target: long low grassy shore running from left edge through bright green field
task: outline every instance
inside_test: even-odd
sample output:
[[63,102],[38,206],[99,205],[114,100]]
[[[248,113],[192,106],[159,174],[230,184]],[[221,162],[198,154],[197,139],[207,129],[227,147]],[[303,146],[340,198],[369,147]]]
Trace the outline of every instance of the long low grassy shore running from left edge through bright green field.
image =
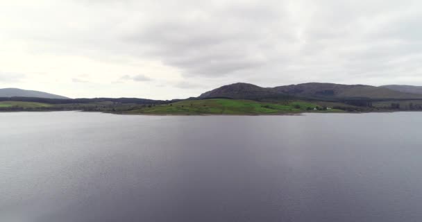
[[[314,110],[318,108],[318,110]],[[73,103],[48,104],[35,102],[0,102],[0,111],[54,111],[83,110],[91,112],[110,112],[116,114],[158,114],[158,115],[201,115],[201,114],[296,114],[301,112],[341,112],[324,109],[323,106],[304,101],[260,102],[236,99],[203,99],[179,101],[168,104],[134,103]]]

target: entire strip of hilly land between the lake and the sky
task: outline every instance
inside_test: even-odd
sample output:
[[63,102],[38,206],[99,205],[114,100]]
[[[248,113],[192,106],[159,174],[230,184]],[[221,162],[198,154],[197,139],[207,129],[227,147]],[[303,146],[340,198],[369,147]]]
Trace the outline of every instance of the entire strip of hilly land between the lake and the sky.
[[[402,89],[403,91],[404,89]],[[10,97],[15,96],[15,97]],[[371,85],[303,83],[260,87],[224,85],[189,99],[65,99],[22,89],[0,89],[0,112],[83,110],[117,114],[286,114],[422,110],[422,94]]]

